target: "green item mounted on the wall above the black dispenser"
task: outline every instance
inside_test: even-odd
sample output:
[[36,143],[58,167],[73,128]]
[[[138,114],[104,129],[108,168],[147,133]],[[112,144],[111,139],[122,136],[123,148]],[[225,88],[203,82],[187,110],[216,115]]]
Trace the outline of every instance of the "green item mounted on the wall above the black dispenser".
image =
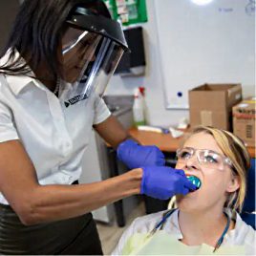
[[129,26],[147,22],[145,0],[104,0],[114,19],[119,19],[122,25]]

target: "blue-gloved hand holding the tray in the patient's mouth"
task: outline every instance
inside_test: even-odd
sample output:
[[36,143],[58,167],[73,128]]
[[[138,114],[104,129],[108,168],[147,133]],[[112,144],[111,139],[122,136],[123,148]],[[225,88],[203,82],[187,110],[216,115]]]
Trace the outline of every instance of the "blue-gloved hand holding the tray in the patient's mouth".
[[197,186],[188,181],[182,170],[164,166],[142,167],[140,193],[149,197],[167,200],[176,194],[186,195]]

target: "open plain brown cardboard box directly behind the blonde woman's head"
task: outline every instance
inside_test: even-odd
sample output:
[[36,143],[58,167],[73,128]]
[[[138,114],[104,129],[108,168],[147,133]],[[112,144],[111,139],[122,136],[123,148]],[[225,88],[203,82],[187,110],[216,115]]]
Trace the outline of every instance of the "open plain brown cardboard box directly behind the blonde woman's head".
[[189,91],[190,125],[232,129],[232,107],[242,100],[241,84],[203,84]]

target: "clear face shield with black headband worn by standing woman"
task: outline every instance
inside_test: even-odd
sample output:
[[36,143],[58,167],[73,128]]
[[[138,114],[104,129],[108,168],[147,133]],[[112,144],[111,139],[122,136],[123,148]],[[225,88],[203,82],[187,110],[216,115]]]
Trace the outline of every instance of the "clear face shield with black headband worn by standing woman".
[[124,51],[128,47],[116,21],[77,8],[62,37],[62,78],[72,84],[72,95],[101,97]]

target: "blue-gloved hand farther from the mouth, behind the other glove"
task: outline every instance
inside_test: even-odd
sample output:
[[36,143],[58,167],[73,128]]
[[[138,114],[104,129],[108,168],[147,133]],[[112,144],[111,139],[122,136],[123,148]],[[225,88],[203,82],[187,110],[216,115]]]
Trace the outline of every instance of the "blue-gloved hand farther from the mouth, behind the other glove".
[[117,158],[130,169],[165,164],[164,155],[157,146],[141,146],[132,139],[126,139],[118,145]]

